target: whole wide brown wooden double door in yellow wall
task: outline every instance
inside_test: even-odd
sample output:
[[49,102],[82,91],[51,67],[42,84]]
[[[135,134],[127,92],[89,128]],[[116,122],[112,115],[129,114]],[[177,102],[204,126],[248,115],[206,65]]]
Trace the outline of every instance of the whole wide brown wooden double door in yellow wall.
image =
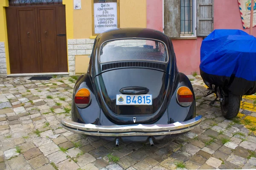
[[6,8],[11,74],[67,72],[65,6]]

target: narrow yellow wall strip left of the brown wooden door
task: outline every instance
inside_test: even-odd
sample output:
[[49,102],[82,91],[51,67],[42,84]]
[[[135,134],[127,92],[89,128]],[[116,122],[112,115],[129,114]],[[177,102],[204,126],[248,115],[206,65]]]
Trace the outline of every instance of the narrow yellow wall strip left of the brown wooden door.
[[5,42],[7,74],[10,74],[9,50],[6,26],[6,10],[9,6],[8,0],[0,0],[0,42]]

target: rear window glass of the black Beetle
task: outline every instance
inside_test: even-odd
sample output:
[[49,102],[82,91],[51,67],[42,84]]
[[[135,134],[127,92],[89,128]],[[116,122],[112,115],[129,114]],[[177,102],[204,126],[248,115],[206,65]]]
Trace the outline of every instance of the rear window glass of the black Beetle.
[[104,42],[99,61],[151,60],[167,62],[166,45],[157,40],[123,39]]

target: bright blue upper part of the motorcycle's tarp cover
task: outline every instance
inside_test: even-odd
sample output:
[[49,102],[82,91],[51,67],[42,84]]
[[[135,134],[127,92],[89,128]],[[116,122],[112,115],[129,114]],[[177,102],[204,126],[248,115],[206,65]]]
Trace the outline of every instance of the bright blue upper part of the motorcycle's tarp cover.
[[[242,89],[243,93],[256,88],[256,38],[241,30],[214,30],[202,42],[200,71],[212,76],[209,78],[204,75],[203,79],[221,79],[230,86],[230,77],[239,78],[239,81],[243,79],[241,83],[253,81],[250,87],[247,85],[247,89]],[[226,78],[227,81],[224,80]],[[239,81],[236,80],[236,83]],[[244,88],[244,85],[238,86],[236,85],[237,89]]]

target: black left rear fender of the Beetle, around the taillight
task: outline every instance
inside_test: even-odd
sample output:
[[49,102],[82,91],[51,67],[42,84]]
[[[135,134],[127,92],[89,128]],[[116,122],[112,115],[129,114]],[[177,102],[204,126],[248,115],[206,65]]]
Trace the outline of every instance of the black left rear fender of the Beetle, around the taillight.
[[[79,108],[76,106],[74,102],[74,97],[76,95],[76,92],[80,88],[87,88],[90,91],[91,101],[86,108]],[[94,123],[96,125],[99,125],[98,123],[100,119],[100,111],[101,109],[96,99],[90,76],[88,74],[83,74],[76,81],[76,85],[73,91],[72,107],[71,107],[72,121],[80,122],[80,123]]]

